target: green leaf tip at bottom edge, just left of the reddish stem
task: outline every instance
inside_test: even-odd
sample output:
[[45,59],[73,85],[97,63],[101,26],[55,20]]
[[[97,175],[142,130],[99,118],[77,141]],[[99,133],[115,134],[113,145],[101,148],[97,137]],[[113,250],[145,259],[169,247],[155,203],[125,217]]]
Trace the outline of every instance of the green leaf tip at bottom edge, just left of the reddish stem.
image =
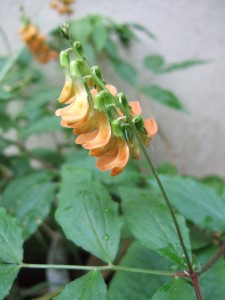
[[[195,300],[193,288],[181,278],[164,284],[151,300]],[[216,299],[216,298],[214,298]]]

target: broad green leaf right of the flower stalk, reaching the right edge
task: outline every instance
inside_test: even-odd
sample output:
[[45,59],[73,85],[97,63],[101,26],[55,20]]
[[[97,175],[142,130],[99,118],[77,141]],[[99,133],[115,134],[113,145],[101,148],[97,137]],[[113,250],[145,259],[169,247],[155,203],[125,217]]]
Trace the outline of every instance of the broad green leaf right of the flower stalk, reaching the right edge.
[[[225,232],[225,201],[212,188],[181,176],[160,178],[178,212],[201,228]],[[154,179],[150,183],[157,189]]]

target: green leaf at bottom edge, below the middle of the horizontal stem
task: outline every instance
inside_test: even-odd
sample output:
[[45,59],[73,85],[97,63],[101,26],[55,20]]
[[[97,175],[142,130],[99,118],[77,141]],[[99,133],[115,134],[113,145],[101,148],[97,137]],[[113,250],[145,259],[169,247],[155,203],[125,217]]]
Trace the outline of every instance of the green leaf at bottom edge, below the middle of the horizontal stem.
[[89,272],[70,282],[54,300],[107,300],[107,288],[98,271]]

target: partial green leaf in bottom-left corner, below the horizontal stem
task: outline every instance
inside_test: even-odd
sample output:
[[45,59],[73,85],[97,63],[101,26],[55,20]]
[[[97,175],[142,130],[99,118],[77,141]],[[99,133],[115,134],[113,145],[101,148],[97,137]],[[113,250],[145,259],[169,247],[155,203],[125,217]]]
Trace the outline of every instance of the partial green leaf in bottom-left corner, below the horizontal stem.
[[0,263],[0,299],[5,299],[18,272],[19,267],[17,265],[4,265]]

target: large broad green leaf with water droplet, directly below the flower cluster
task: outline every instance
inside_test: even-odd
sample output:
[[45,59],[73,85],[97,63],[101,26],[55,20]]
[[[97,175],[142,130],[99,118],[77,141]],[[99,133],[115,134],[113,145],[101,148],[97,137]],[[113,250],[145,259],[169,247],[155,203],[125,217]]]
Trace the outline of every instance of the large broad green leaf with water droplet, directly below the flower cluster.
[[120,240],[118,205],[89,170],[65,166],[56,219],[68,239],[112,262]]

